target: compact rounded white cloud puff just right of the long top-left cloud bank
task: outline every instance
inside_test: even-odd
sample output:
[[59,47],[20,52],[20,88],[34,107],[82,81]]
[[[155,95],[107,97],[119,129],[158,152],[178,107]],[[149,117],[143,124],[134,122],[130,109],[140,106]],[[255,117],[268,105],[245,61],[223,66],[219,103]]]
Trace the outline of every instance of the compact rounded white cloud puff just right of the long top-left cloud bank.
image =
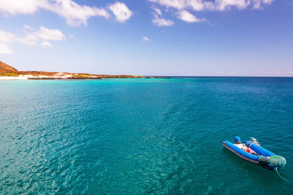
[[119,22],[125,22],[129,20],[133,12],[123,3],[116,1],[115,3],[108,6],[108,8],[113,12],[116,20]]

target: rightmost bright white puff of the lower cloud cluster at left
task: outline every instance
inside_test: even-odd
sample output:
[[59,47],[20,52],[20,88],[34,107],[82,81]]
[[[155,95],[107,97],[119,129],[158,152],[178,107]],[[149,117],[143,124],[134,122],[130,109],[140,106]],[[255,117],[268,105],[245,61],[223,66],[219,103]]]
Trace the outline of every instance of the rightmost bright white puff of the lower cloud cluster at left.
[[65,40],[65,35],[60,30],[48,29],[43,26],[40,26],[40,30],[35,35],[46,40]]

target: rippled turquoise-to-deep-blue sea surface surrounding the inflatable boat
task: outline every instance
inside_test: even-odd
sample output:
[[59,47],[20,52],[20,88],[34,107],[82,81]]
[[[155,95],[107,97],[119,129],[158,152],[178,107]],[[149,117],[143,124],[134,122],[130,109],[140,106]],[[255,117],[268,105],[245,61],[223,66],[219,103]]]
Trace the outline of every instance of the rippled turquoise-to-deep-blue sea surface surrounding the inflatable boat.
[[293,78],[196,78],[0,80],[0,194],[293,194]]

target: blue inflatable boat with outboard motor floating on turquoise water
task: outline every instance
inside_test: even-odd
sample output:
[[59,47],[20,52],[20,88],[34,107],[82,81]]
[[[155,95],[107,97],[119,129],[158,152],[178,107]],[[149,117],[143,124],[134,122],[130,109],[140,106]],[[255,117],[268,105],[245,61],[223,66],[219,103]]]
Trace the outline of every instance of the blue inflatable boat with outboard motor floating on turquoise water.
[[223,146],[242,159],[260,165],[265,169],[276,170],[286,164],[286,159],[283,156],[277,156],[262,148],[253,137],[249,141],[244,141],[244,143],[240,142],[240,137],[234,137],[234,144],[225,140]]

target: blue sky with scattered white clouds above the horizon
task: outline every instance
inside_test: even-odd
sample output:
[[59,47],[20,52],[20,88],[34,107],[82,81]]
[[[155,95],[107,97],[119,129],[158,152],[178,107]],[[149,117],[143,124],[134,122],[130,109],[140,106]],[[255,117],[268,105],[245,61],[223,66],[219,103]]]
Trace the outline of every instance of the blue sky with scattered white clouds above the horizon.
[[293,0],[0,0],[18,70],[293,77]]

